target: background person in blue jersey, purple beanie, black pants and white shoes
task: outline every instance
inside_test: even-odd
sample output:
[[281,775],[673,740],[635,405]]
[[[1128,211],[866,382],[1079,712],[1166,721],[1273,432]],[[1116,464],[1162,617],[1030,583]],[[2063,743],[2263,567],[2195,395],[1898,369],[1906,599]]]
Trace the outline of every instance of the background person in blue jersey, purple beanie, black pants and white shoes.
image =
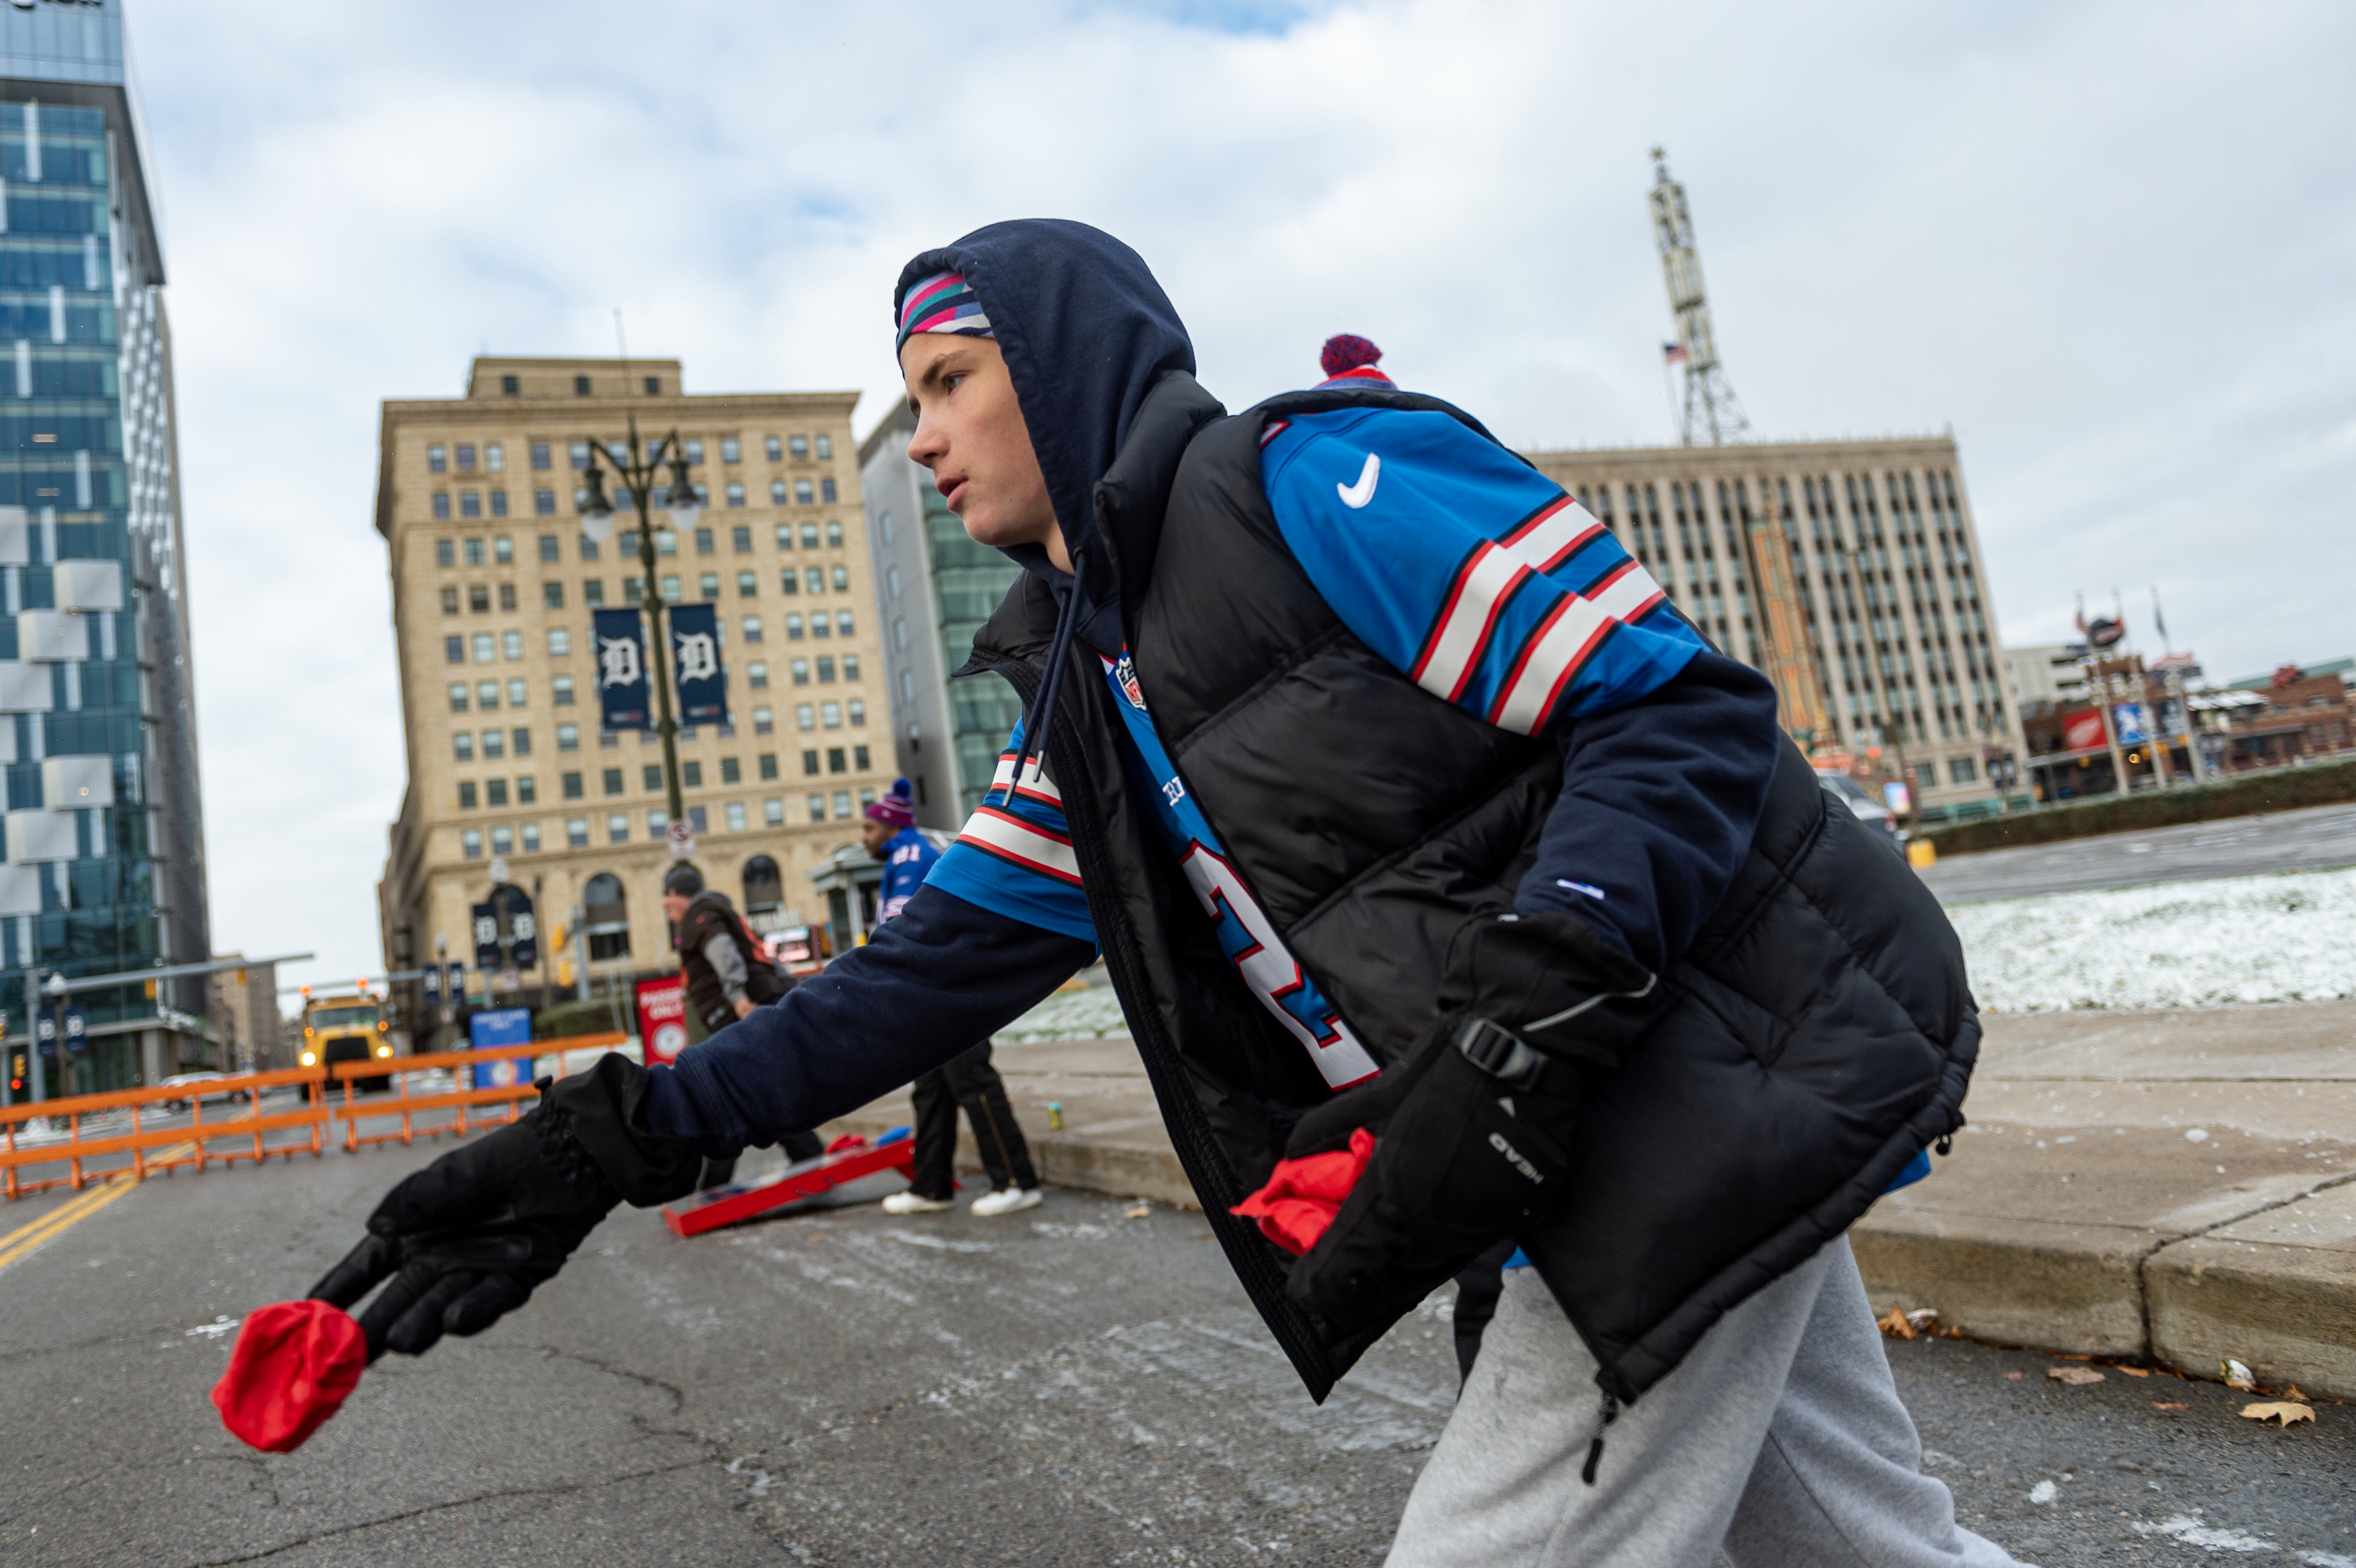
[[[860,819],[860,843],[884,862],[884,883],[876,888],[876,925],[884,925],[907,909],[916,888],[924,888],[924,878],[940,864],[940,850],[916,829],[916,803],[907,779],[893,779],[891,791],[867,808]],[[973,1123],[973,1147],[990,1175],[990,1191],[971,1203],[973,1212],[990,1220],[1039,1208],[1039,1172],[1032,1170],[1030,1142],[1006,1099],[1006,1081],[990,1064],[990,1041],[919,1074],[909,1097],[916,1111],[916,1168],[907,1191],[884,1198],[886,1212],[940,1215],[957,1208],[949,1194],[957,1191],[959,1107]]]

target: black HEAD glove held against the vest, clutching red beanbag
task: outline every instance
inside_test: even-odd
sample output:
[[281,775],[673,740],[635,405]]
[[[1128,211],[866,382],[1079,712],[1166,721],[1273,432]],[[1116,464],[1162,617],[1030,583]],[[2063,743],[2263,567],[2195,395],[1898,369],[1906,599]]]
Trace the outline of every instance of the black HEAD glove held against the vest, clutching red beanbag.
[[1465,928],[1442,982],[1449,1012],[1374,1083],[1315,1107],[1286,1158],[1355,1128],[1374,1158],[1286,1293],[1336,1323],[1388,1271],[1449,1274],[1562,1201],[1586,1081],[1652,1017],[1654,977],[1579,916]]

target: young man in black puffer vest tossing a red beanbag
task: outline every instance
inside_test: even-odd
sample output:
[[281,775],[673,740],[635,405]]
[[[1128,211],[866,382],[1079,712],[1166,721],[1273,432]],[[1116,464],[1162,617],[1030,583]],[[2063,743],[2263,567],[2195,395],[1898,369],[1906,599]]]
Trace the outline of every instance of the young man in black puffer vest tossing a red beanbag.
[[1110,235],[997,224],[893,304],[909,454],[1025,567],[968,664],[1025,702],[990,800],[867,946],[410,1177],[320,1295],[391,1276],[372,1349],[476,1333],[613,1203],[1103,951],[1315,1398],[1482,1253],[1527,1264],[1392,1563],[2010,1561],[1918,1474],[1845,1241],[1960,1123],[1963,956],[1767,683],[1461,410],[1227,417]]

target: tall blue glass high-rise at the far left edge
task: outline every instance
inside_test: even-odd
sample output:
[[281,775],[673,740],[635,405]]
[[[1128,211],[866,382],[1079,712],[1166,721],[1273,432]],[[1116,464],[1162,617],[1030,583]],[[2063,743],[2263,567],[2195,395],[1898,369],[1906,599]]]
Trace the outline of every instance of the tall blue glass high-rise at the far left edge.
[[[0,1005],[210,956],[172,339],[120,0],[0,7]],[[205,982],[73,998],[49,1095],[205,1057]],[[31,1076],[31,1074],[26,1074]],[[12,1083],[12,1097],[26,1088]]]

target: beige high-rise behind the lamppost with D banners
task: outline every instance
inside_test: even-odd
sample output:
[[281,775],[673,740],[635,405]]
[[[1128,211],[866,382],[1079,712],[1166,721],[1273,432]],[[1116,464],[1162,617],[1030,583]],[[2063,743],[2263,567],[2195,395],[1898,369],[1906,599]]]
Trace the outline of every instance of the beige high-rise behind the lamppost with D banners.
[[679,431],[707,497],[690,530],[662,490],[653,513],[660,591],[716,605],[728,673],[730,725],[679,732],[695,864],[756,925],[827,918],[808,873],[893,777],[855,403],[686,396],[679,360],[509,358],[474,360],[464,398],[384,403],[377,532],[410,768],[377,888],[393,972],[476,968],[471,911],[502,862],[540,928],[516,1001],[561,1001],[582,956],[601,994],[676,963],[662,744],[598,725],[591,610],[641,598],[610,471],[613,532],[580,518],[587,443],[622,445],[631,414],[648,447]]

